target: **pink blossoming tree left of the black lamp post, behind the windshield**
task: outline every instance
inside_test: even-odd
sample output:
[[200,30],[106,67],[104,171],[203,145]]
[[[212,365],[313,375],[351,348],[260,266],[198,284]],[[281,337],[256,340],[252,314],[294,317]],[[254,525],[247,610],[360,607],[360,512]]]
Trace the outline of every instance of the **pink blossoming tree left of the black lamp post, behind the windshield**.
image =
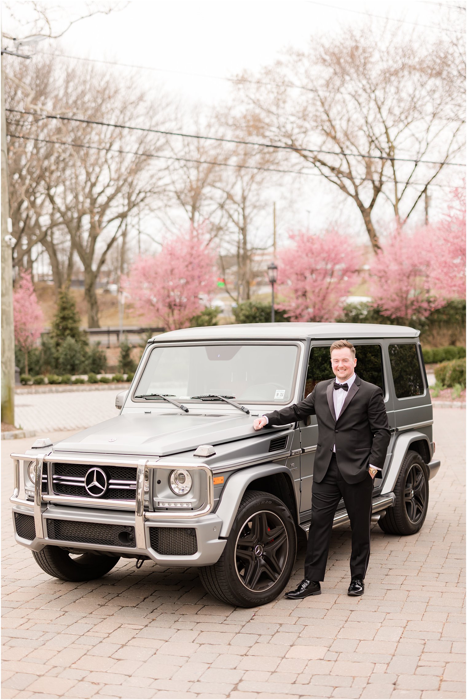
[[157,255],[138,258],[122,286],[148,322],[187,328],[203,309],[200,295],[215,290],[215,258],[203,230],[192,228],[166,241]]

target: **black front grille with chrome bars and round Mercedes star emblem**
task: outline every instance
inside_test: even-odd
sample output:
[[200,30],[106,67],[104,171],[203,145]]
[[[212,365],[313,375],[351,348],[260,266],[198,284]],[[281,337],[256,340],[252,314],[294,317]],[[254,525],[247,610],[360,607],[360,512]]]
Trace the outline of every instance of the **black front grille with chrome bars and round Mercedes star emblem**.
[[[52,462],[52,491],[59,496],[82,496],[89,498],[85,489],[85,477],[94,465]],[[106,473],[108,488],[101,496],[106,500],[135,500],[136,468],[110,465],[101,467]],[[96,500],[99,500],[96,498]]]

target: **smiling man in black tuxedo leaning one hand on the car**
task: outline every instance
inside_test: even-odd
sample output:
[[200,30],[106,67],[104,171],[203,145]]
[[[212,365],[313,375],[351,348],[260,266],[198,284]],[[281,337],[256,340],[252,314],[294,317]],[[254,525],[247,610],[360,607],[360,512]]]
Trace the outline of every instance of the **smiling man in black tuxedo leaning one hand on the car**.
[[389,423],[379,386],[354,372],[355,348],[347,340],[331,345],[336,379],[320,381],[303,401],[257,418],[253,427],[280,426],[316,414],[318,444],[313,470],[311,526],[305,557],[305,578],[287,598],[321,593],[333,518],[340,498],[352,528],[350,596],[361,596],[370,558],[373,479],[381,478],[389,445]]

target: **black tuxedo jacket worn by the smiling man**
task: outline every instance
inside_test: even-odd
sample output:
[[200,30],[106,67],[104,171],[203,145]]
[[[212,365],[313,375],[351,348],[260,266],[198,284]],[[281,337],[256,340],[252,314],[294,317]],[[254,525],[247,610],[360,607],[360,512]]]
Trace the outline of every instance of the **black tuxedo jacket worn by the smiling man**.
[[[379,386],[355,375],[336,421],[334,381],[320,381],[303,401],[266,413],[268,425],[283,426],[316,414],[319,442],[313,481],[324,479],[335,444],[340,473],[348,484],[357,484],[368,474],[369,464],[382,468],[385,463],[391,437],[385,402]],[[381,478],[381,472],[375,478]]]

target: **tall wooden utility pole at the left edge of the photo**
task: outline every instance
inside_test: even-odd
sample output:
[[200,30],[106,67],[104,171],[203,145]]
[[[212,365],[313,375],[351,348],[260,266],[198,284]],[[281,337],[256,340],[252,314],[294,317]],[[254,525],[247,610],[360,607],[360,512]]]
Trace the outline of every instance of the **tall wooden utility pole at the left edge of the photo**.
[[1,59],[1,421],[15,425],[15,332],[5,91]]

